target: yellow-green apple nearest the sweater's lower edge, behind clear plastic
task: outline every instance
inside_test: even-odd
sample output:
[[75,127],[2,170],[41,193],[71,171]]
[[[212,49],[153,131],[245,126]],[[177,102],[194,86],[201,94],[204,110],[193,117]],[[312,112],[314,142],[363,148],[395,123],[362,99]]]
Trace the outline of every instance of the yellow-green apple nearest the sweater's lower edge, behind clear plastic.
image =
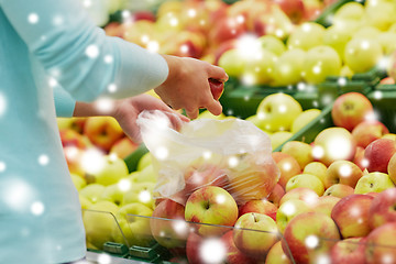
[[84,212],[82,222],[87,242],[102,250],[106,242],[112,241],[112,229],[117,224],[114,216],[119,207],[111,201],[98,201]]

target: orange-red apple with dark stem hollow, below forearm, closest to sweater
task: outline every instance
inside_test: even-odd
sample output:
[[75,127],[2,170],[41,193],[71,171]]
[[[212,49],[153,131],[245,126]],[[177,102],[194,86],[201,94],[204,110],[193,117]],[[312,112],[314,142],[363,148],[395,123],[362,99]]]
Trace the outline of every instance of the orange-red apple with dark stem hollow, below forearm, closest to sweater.
[[84,127],[84,134],[105,152],[110,151],[111,146],[124,136],[120,124],[111,117],[88,118]]

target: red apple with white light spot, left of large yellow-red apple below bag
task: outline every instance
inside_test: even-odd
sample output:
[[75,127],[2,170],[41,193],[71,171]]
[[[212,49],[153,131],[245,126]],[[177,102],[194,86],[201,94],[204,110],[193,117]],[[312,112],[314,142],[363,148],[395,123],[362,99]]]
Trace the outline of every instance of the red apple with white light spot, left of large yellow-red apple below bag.
[[[185,207],[164,199],[153,211],[150,219],[151,233],[158,244],[172,249],[184,246],[188,237],[188,224],[185,222]],[[172,219],[172,221],[166,220]]]

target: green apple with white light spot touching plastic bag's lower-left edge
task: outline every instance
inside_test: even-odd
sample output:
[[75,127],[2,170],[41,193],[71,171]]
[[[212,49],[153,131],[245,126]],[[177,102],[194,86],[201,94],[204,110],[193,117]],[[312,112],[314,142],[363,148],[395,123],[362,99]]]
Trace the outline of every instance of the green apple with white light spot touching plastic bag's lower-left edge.
[[150,182],[132,184],[131,188],[123,195],[122,205],[140,202],[154,209],[153,189],[155,185]]

